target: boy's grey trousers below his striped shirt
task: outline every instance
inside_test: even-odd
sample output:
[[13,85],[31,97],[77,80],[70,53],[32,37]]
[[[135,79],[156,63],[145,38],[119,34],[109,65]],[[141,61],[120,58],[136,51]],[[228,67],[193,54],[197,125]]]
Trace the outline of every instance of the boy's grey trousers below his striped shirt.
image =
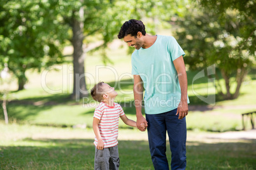
[[94,169],[95,170],[118,170],[120,164],[118,147],[104,148],[98,150],[95,147]]

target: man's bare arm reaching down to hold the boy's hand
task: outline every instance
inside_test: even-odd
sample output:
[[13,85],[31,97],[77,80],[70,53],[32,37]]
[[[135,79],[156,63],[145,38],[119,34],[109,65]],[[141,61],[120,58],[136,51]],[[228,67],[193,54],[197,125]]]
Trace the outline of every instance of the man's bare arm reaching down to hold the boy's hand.
[[145,124],[145,127],[148,127],[148,122],[141,113],[141,103],[143,100],[143,81],[139,75],[134,75],[134,103],[136,108],[136,117],[137,117],[137,128],[140,131],[145,131],[145,128],[141,127],[141,124]]

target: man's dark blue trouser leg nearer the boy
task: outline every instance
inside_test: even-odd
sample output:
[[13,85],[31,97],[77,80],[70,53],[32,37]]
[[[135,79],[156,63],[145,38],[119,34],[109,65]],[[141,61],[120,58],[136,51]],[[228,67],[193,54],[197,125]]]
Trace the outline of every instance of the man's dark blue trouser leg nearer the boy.
[[148,143],[155,169],[169,169],[166,158],[166,121],[164,114],[146,114],[148,122]]

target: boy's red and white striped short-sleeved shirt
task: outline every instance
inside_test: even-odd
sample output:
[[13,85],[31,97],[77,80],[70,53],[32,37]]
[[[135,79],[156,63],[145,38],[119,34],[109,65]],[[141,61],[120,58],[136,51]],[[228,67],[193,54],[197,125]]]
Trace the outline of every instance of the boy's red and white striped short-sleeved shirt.
[[[124,110],[118,104],[114,103],[113,107],[101,102],[94,111],[94,117],[99,119],[99,133],[103,139],[104,148],[114,147],[118,144],[118,122],[119,117],[123,116]],[[95,136],[94,145],[97,146],[97,138]]]

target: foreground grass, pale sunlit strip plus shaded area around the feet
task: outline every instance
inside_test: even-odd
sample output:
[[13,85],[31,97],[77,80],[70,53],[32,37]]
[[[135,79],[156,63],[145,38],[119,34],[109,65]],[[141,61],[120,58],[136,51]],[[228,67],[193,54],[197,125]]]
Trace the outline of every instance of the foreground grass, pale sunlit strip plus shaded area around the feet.
[[[0,122],[0,169],[94,169],[92,129]],[[120,169],[153,169],[146,133],[120,129]],[[187,141],[187,169],[255,169],[255,140]],[[141,137],[142,136],[142,137]],[[127,140],[129,138],[129,140]],[[167,159],[171,160],[169,143]]]

